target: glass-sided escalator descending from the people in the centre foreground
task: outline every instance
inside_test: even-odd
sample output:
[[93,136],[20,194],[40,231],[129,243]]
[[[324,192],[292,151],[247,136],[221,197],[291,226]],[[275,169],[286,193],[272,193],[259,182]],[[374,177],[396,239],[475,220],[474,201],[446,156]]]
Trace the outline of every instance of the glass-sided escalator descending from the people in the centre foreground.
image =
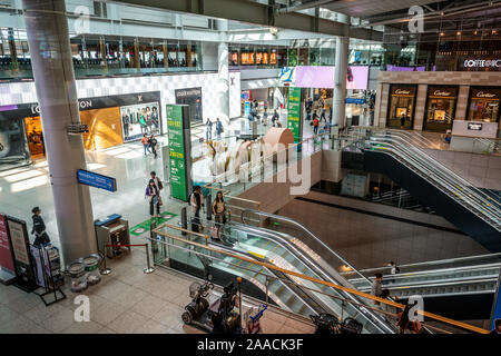
[[[207,222],[203,221],[203,225],[209,225]],[[312,279],[353,287],[347,280],[340,278],[338,275],[333,278],[332,275],[335,274],[335,270],[330,270],[330,266],[326,264],[321,266],[318,260],[312,258],[292,240],[294,238],[266,228],[233,221],[228,222],[225,225],[220,241],[207,240],[208,246],[213,247],[213,249],[209,253],[210,257],[202,258],[204,260],[204,273],[212,274],[215,277],[215,283],[219,285],[225,283],[222,278],[234,280],[235,276],[243,277],[244,293],[247,294],[247,290],[254,289],[254,295],[250,294],[250,296],[262,300],[268,298],[272,304],[284,310],[306,317],[321,313],[335,315],[340,319],[350,316],[363,325],[363,333],[395,333],[394,326],[390,325],[373,310],[364,307],[366,304],[362,300],[363,298],[313,280],[282,273],[274,268],[266,268],[258,264],[273,264],[285,270],[306,275]],[[203,238],[199,243],[205,244]],[[203,248],[196,247],[195,251],[203,253]],[[256,260],[256,264],[238,258],[238,255],[246,259]],[[170,260],[176,258],[174,256],[173,251],[170,251]],[[183,258],[186,260],[185,265],[193,264],[187,260],[186,256],[179,256],[177,259],[180,260]],[[199,260],[200,258],[194,263],[200,264]],[[173,263],[170,263],[170,266],[173,266]],[[178,264],[174,268],[179,266]],[[202,268],[199,269],[202,270]],[[338,280],[342,280],[342,283],[338,283]],[[247,287],[247,290],[244,290],[244,286]],[[256,294],[256,289],[261,291],[261,295],[259,293]]]

